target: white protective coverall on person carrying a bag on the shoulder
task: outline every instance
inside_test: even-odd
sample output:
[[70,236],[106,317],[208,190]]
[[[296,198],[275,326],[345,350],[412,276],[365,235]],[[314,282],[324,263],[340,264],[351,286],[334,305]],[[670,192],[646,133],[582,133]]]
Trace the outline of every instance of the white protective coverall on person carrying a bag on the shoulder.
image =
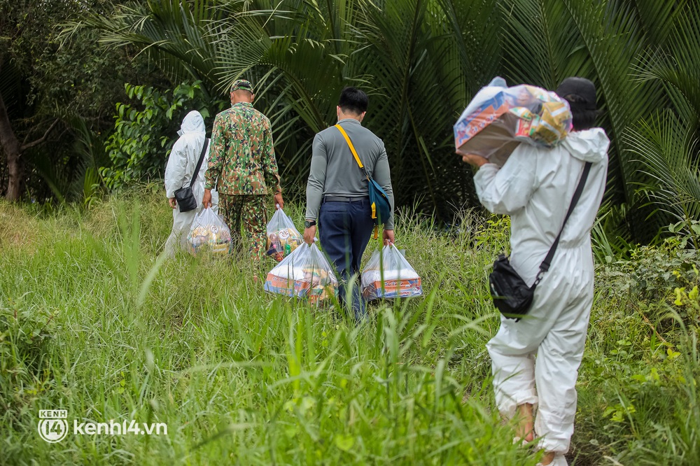
[[535,433],[540,448],[555,452],[555,466],[567,464],[563,454],[573,434],[575,383],[593,304],[590,232],[605,190],[609,145],[601,128],[572,132],[556,148],[522,143],[503,167],[484,164],[474,177],[486,209],[510,215],[510,263],[532,285],[561,229],[584,162],[592,162],[529,313],[519,322],[502,316],[498,333],[486,344],[499,411],[512,418],[520,404],[538,406]]

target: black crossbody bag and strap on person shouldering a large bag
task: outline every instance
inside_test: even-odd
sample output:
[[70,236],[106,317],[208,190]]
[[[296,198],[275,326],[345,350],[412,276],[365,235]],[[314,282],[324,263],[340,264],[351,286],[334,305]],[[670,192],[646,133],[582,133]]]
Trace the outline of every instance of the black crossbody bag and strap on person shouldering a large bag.
[[583,174],[573,193],[569,209],[566,212],[566,217],[564,217],[564,223],[561,225],[561,230],[559,230],[559,234],[556,235],[554,243],[552,243],[552,246],[549,248],[547,257],[545,257],[545,260],[540,264],[540,271],[532,286],[528,286],[517,271],[513,269],[510,265],[510,260],[508,260],[505,254],[498,255],[496,262],[493,262],[493,271],[491,271],[489,275],[491,297],[493,298],[493,305],[498,308],[498,311],[500,311],[505,318],[515,319],[517,322],[530,310],[532,299],[535,295],[535,288],[537,288],[545,272],[549,270],[549,265],[552,263],[552,257],[554,257],[556,246],[559,245],[561,232],[563,232],[566,220],[568,220],[578,199],[581,197],[589,171],[591,171],[591,162],[586,162],[583,167]]

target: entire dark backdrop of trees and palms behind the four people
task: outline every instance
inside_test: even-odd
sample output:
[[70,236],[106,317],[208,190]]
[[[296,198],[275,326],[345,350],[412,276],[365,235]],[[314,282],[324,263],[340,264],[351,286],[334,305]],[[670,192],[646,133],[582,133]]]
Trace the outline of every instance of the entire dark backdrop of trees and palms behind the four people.
[[[104,126],[106,108],[123,102],[145,111],[124,101],[125,81],[163,95],[201,82],[202,101],[214,102],[246,77],[272,120],[288,192],[302,188],[311,139],[333,123],[339,90],[358,85],[370,93],[365,123],[386,143],[398,205],[449,223],[460,206],[477,204],[471,171],[451,142],[451,125],[472,95],[499,74],[549,89],[576,75],[596,83],[600,124],[612,139],[603,223],[610,246],[649,241],[669,222],[688,233],[700,215],[694,1],[54,0],[41,11],[31,0],[6,3],[0,35],[10,48],[0,57],[0,95],[11,102],[15,132],[38,137],[53,121],[50,134],[64,127],[62,141],[83,141],[58,146],[60,155],[41,146],[22,156],[59,199],[102,183],[96,167],[123,171],[101,148],[120,164],[137,150],[115,147],[120,141],[174,137],[158,123],[106,141],[125,129],[118,113],[116,127]],[[159,72],[138,71],[145,63]],[[21,79],[8,79],[10,72]],[[18,113],[27,104],[29,118]],[[163,150],[142,159],[123,181],[162,174],[166,157]],[[78,169],[66,171],[76,160]],[[38,192],[36,179],[27,181]]]

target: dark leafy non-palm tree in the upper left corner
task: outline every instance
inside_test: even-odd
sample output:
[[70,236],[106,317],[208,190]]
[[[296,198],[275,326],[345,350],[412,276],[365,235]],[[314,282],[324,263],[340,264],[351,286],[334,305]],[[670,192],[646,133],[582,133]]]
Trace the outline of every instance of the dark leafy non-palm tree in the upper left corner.
[[0,195],[89,199],[109,164],[104,141],[125,80],[166,85],[132,48],[99,47],[97,31],[59,39],[64,22],[118,3],[0,0]]

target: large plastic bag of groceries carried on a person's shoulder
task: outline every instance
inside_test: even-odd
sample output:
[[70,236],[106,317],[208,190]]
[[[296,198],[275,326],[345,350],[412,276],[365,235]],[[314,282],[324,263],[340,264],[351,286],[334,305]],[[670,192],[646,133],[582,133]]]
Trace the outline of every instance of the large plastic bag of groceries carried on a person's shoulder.
[[565,99],[531,85],[507,87],[494,78],[482,87],[454,125],[454,146],[503,164],[521,142],[553,147],[572,129]]

